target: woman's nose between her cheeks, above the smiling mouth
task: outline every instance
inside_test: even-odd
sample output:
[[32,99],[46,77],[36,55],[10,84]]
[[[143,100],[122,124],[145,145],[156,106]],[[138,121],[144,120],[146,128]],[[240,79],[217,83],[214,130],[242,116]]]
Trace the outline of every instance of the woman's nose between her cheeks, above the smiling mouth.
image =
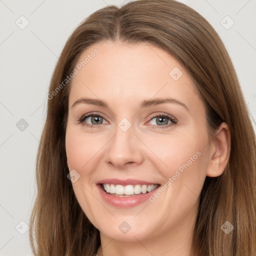
[[132,126],[123,131],[116,127],[115,135],[107,143],[105,161],[116,168],[135,166],[143,161],[142,143],[133,134]]

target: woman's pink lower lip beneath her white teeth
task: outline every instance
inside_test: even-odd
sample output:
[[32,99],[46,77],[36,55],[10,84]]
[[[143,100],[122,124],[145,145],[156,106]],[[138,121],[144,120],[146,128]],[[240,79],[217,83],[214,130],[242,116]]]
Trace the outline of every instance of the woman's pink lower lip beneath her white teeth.
[[107,203],[115,207],[121,207],[121,208],[130,208],[130,207],[139,205],[140,203],[146,201],[150,197],[150,195],[152,195],[155,192],[155,190],[158,188],[156,187],[154,190],[144,194],[138,194],[130,197],[119,197],[119,196],[114,196],[105,192],[101,184],[97,184],[97,187],[99,189],[99,193]]

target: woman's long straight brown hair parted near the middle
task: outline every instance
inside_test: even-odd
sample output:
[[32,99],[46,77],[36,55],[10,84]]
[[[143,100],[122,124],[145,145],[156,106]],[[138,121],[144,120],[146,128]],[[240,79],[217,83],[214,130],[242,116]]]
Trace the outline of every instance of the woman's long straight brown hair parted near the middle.
[[[82,211],[67,178],[65,128],[71,80],[65,79],[88,46],[107,39],[148,42],[172,54],[194,80],[209,132],[222,121],[228,124],[229,161],[222,175],[205,179],[192,249],[198,256],[254,256],[256,145],[248,110],[218,34],[200,14],[174,0],[106,6],[81,22],[68,38],[50,81],[36,159],[37,197],[29,229],[34,255],[91,256],[100,244],[99,231]],[[221,230],[225,221],[234,226],[229,234]]]

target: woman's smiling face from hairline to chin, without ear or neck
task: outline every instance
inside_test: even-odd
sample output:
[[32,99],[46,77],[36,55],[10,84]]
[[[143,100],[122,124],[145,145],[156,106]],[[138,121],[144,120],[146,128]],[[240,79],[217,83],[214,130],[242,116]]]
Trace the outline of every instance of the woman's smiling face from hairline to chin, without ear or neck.
[[91,45],[77,64],[65,145],[84,213],[120,240],[190,233],[210,143],[186,70],[154,45],[119,41]]

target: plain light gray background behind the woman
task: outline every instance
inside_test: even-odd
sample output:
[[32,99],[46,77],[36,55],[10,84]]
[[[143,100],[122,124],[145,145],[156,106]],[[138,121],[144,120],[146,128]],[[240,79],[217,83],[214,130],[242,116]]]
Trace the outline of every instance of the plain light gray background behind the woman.
[[[222,38],[256,119],[256,0],[180,1],[204,16]],[[38,139],[45,120],[47,88],[61,49],[90,13],[122,2],[0,0],[0,255],[32,255],[24,222],[29,222],[35,198]],[[16,20],[25,24],[21,15],[29,21],[24,29],[15,24]],[[229,29],[232,21],[223,19],[226,15],[234,21]],[[28,127],[16,126],[21,118]]]

